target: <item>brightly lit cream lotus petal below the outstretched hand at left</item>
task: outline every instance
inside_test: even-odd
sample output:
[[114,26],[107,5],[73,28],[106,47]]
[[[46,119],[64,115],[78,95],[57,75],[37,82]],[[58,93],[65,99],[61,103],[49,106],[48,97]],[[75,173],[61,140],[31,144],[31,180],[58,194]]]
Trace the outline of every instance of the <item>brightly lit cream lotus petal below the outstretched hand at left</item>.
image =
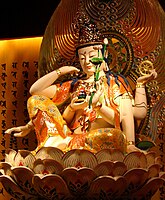
[[33,163],[36,160],[34,155],[27,150],[19,150],[15,156],[15,166],[25,166],[33,169]]

